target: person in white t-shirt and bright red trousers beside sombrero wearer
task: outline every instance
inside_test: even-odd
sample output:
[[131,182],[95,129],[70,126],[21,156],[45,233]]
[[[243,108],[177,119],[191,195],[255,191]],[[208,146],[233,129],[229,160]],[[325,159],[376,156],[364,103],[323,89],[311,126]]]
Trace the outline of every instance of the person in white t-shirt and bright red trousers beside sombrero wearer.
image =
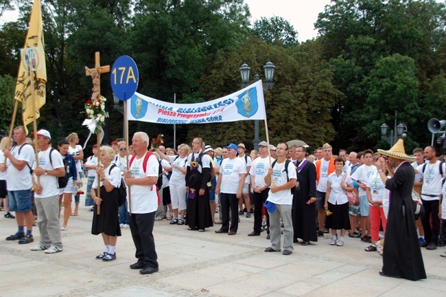
[[[386,168],[386,160],[388,157],[381,155],[377,157],[375,166],[377,163],[382,164],[383,168]],[[386,194],[385,184],[379,177],[378,170],[373,170],[370,177],[368,177],[368,184],[366,189],[366,195],[368,199],[368,207],[370,209],[370,222],[371,222],[371,235],[372,244],[365,248],[366,252],[375,252],[377,250],[376,242],[379,241],[379,225],[382,224],[382,228],[386,230],[386,216],[384,215],[383,199]]]

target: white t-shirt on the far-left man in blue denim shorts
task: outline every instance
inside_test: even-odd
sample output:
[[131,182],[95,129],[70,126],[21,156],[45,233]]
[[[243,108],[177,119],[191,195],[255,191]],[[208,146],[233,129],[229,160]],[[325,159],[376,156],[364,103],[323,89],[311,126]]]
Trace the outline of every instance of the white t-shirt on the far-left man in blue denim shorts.
[[[19,150],[22,147],[19,155]],[[8,190],[30,190],[32,188],[31,170],[36,161],[36,155],[34,155],[34,148],[31,144],[22,144],[21,146],[14,146],[11,150],[14,158],[27,162],[27,165],[22,170],[17,170],[14,165],[11,164],[10,159],[6,161],[6,186]],[[30,167],[28,167],[30,166]]]

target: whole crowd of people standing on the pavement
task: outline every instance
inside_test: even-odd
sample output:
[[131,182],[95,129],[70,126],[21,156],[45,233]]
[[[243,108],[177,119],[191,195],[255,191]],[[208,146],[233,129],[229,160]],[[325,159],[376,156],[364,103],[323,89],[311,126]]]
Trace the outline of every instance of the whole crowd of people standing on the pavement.
[[[14,129],[14,146],[8,137],[0,142],[0,198],[5,217],[15,212],[18,225],[6,240],[32,243],[37,217],[40,242],[34,251],[62,252],[61,230],[78,214],[84,169],[91,233],[102,234],[105,245],[96,259],[117,259],[117,236],[130,228],[137,258],[130,268],[141,274],[159,270],[152,231],[161,219],[198,232],[220,225],[215,233],[235,235],[239,217],[253,214],[247,235],[264,231],[270,240],[265,252],[283,255],[292,254],[294,244],[312,245],[329,233],[329,245],[342,247],[348,234],[366,243],[364,252],[383,256],[380,274],[413,281],[426,277],[421,248],[446,245],[446,168],[434,146],[406,155],[399,140],[389,151],[333,155],[330,144],[310,153],[307,146],[262,141],[258,152],[248,154],[242,143],[212,148],[200,137],[190,146],[165,148],[137,132],[131,146],[123,139],[93,146],[82,165],[76,133],[60,140],[58,150],[51,148],[48,131],[35,137],[37,159],[23,126]],[[62,177],[68,181],[60,188]],[[119,206],[121,183],[128,198]]]

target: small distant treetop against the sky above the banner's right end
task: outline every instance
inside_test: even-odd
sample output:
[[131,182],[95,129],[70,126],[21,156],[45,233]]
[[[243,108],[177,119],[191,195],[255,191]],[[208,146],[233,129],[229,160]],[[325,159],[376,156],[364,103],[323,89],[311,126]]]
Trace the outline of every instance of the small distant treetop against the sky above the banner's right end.
[[271,17],[256,20],[253,26],[253,35],[266,43],[280,42],[284,47],[298,44],[298,33],[294,27],[282,17]]

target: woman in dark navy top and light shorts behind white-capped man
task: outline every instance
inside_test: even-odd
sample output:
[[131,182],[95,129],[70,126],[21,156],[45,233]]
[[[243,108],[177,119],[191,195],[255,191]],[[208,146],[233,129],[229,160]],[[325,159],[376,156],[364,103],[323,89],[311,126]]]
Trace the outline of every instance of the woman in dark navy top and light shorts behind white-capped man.
[[64,202],[64,221],[61,230],[67,230],[68,220],[71,215],[71,198],[78,188],[78,169],[76,168],[75,159],[69,153],[68,140],[60,140],[58,144],[59,153],[62,155],[64,162],[67,163],[67,171],[69,173],[68,184],[65,188],[59,189],[59,219],[62,201]]

